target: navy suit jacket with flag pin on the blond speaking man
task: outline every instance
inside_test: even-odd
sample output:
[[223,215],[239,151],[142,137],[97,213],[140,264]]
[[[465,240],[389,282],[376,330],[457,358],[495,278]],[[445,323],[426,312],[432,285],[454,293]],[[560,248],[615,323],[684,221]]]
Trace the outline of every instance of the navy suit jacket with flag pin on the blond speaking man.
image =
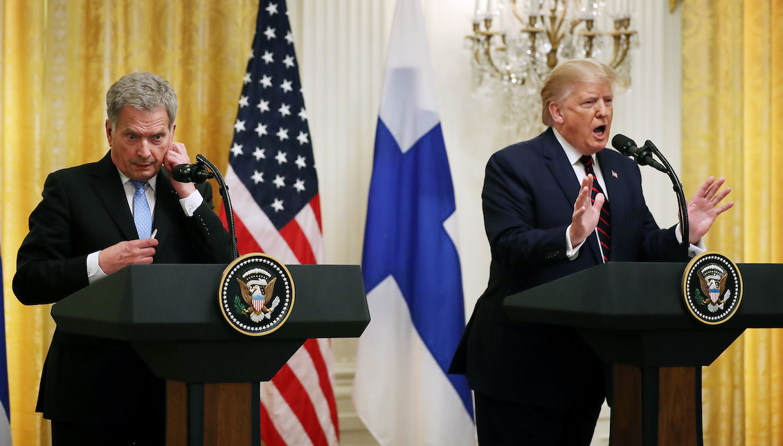
[[[637,164],[611,149],[597,158],[612,204],[610,261],[679,260],[673,228],[660,229],[644,203]],[[512,324],[503,312],[504,297],[601,263],[595,233],[576,259],[565,255],[579,188],[551,128],[490,158],[482,192],[492,249],[489,286],[451,366],[467,375],[472,389],[555,408],[602,401],[601,361],[573,330]]]

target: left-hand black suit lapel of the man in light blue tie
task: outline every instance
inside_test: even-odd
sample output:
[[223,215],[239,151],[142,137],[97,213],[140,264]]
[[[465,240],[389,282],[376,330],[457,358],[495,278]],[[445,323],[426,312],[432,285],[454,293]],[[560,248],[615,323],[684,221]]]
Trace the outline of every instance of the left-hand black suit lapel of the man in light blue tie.
[[92,189],[95,191],[106,213],[117,225],[124,239],[138,239],[133,215],[125,198],[125,191],[117,174],[117,167],[111,162],[111,154],[106,153],[95,164],[92,172]]

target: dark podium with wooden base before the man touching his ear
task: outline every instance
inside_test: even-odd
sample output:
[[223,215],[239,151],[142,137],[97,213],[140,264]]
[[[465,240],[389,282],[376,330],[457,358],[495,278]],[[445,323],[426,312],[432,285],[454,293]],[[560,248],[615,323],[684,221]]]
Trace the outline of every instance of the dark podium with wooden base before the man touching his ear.
[[166,444],[260,444],[258,382],[310,338],[358,337],[370,322],[358,265],[289,265],[294,307],[266,336],[229,326],[218,305],[226,265],[123,268],[52,307],[58,329],[124,340],[167,379]]

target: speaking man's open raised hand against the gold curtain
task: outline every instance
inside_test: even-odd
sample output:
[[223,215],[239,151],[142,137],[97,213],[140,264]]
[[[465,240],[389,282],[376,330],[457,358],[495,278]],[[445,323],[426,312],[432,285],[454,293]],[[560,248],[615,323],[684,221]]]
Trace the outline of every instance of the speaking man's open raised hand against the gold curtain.
[[724,182],[726,182],[725,178],[718,178],[717,181],[715,177],[707,178],[707,181],[698,188],[693,199],[687,204],[688,232],[690,233],[688,241],[691,244],[698,243],[712,227],[713,221],[718,215],[734,206],[733,201],[720,204],[731,192],[730,187],[720,190]]

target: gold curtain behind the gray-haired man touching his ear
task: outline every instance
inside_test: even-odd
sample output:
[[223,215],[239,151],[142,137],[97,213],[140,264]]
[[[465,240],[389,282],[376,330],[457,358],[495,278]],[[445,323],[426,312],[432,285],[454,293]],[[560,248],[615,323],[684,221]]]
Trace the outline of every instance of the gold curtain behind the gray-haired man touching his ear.
[[139,70],[175,88],[175,140],[191,159],[203,153],[225,171],[257,11],[258,0],[0,2],[0,246],[15,444],[50,444],[35,400],[51,307],[24,307],[11,290],[46,174],[106,153],[106,89]]

